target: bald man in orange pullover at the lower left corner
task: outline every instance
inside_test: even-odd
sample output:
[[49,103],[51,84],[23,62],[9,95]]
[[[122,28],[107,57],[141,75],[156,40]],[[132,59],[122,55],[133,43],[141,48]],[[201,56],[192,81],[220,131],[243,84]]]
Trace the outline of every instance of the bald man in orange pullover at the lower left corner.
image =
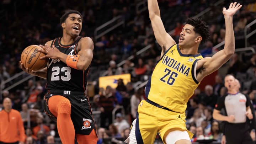
[[24,144],[26,135],[20,112],[12,109],[10,98],[3,101],[4,110],[0,112],[0,143]]

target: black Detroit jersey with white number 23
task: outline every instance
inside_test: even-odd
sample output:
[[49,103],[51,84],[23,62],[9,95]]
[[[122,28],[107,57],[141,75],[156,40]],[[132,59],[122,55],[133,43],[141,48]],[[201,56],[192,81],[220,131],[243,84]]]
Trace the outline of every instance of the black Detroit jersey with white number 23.
[[[79,37],[73,44],[64,46],[60,44],[61,38],[55,38],[51,44],[60,50],[60,52],[68,55],[77,55],[77,45]],[[90,68],[90,66],[89,66]],[[60,59],[49,59],[47,66],[47,90],[70,90],[84,92],[86,89],[87,79],[86,76],[89,72],[89,68],[86,70],[76,70],[69,67]]]

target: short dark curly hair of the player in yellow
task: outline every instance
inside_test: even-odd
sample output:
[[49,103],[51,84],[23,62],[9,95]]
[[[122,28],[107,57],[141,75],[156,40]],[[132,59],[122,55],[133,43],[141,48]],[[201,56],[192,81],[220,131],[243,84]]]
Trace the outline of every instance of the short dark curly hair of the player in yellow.
[[188,18],[186,23],[194,27],[194,31],[202,37],[202,42],[210,38],[209,26],[201,18]]

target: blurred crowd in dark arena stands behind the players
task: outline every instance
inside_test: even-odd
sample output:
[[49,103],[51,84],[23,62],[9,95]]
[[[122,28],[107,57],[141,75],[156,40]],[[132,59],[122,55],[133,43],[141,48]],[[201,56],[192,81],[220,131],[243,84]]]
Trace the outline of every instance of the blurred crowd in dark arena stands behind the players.
[[[0,81],[3,82],[22,71],[19,60],[22,50],[32,44],[44,44],[61,36],[59,18],[68,9],[75,9],[83,16],[81,36],[88,36],[94,40],[94,58],[89,81],[96,81],[94,96],[90,97],[93,111],[100,112],[97,120],[98,144],[106,143],[107,138],[126,139],[129,127],[137,113],[139,102],[145,99],[144,86],[139,84],[148,80],[160,59],[161,48],[155,43],[148,11],[137,11],[137,0],[74,0],[74,1],[1,1],[0,27]],[[244,47],[244,28],[255,20],[256,3],[253,0],[238,1],[244,6],[234,17],[236,48]],[[203,57],[212,55],[212,48],[225,39],[224,17],[222,7],[229,4],[224,1],[215,6],[210,0],[159,0],[161,18],[167,32],[177,40],[180,36],[183,22],[187,17],[194,16],[202,10],[211,8],[207,14],[201,16],[210,26],[211,39],[201,44],[199,51]],[[178,15],[178,17],[177,17]],[[125,24],[113,31],[95,39],[96,27],[122,16]],[[248,31],[255,30],[252,26]],[[255,47],[255,35],[249,39],[249,44]],[[139,50],[150,46],[142,54]],[[218,49],[217,49],[218,50]],[[129,58],[130,57],[130,58]],[[129,58],[129,59],[128,59]],[[120,62],[124,61],[121,65]],[[223,77],[234,74],[240,80],[241,91],[254,99],[256,94],[256,55],[251,53],[236,53],[225,64],[222,75],[217,75],[215,85],[207,85],[204,91],[197,89],[187,107],[187,128],[194,133],[194,138],[221,138],[220,122],[213,120],[212,111],[218,97],[225,95]],[[98,77],[107,75],[130,74],[131,81],[124,84],[117,80],[117,87],[98,87]],[[26,78],[23,74],[7,82],[1,89]],[[48,143],[59,140],[56,124],[43,112],[43,96],[46,81],[32,78],[10,90],[2,91],[3,98],[12,100],[12,108],[20,111],[26,129],[27,144]],[[256,103],[254,103],[256,108]],[[114,115],[112,112],[114,110]],[[114,118],[113,118],[114,117]],[[195,140],[196,141],[196,140]],[[53,142],[54,143],[54,142]],[[55,142],[56,143],[56,142]]]

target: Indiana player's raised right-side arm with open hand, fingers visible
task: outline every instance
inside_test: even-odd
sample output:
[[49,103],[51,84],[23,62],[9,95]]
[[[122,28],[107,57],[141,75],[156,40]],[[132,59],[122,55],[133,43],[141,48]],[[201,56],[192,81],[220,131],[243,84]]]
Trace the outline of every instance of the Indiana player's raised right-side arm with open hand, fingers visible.
[[220,50],[213,57],[203,58],[198,60],[197,70],[197,80],[202,81],[202,79],[213,73],[215,70],[219,69],[224,63],[226,63],[235,52],[235,36],[233,30],[233,15],[242,7],[242,5],[232,2],[229,8],[223,8],[223,15],[225,18],[226,34],[225,34],[225,46],[223,50]]

